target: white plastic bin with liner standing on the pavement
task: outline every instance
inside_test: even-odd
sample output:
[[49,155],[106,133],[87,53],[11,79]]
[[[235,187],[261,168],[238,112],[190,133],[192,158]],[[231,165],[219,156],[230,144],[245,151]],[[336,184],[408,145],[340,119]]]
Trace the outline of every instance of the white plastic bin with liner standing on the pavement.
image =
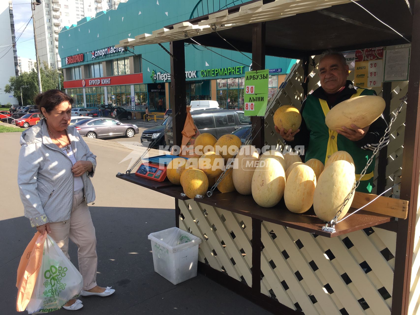
[[173,284],[197,276],[198,245],[201,239],[180,228],[149,234],[155,271]]

